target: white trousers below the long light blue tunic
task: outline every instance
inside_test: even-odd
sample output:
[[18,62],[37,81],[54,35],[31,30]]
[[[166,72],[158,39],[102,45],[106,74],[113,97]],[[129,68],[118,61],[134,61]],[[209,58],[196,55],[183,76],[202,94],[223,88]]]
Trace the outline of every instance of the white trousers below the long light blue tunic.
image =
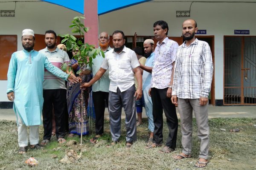
[[[24,124],[21,117],[17,114],[18,126],[18,143],[19,147],[28,146],[27,126]],[[29,126],[29,143],[30,145],[38,144],[39,142],[39,125]]]

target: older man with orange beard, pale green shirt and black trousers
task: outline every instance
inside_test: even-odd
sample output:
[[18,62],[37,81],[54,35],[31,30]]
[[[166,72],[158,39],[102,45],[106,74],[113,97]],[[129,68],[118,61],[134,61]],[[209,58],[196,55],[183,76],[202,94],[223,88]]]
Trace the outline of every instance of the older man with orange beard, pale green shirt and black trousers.
[[[112,48],[108,45],[109,44],[109,35],[107,32],[102,32],[99,34],[99,48],[104,52],[110,51]],[[90,67],[87,65],[87,69],[89,71],[84,71],[86,74],[93,73],[93,77],[99,70],[102,65],[103,61],[102,54],[100,53],[93,59],[93,65]],[[93,105],[95,109],[95,131],[96,136],[90,139],[90,142],[95,143],[97,139],[103,134],[104,132],[104,112],[105,112],[105,103],[108,106],[108,92],[109,92],[109,83],[110,79],[108,77],[108,70],[103,74],[103,76],[97,80],[93,84]]]

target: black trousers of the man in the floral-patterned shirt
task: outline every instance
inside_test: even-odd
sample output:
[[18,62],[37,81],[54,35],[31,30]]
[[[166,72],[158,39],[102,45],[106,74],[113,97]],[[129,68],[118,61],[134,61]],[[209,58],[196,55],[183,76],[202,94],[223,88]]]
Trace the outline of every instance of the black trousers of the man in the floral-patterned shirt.
[[166,122],[169,128],[169,136],[166,146],[175,149],[178,119],[175,105],[172,104],[170,98],[166,96],[168,88],[157,89],[151,88],[151,99],[153,103],[153,119],[154,119],[154,136],[153,142],[157,144],[163,143],[163,111],[166,115]]

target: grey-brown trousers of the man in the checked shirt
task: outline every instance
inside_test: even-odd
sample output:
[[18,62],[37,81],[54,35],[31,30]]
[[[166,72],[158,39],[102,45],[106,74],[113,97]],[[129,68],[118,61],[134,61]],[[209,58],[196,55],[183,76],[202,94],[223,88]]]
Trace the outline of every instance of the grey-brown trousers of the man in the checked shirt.
[[208,159],[209,154],[209,126],[208,126],[208,103],[199,105],[199,99],[178,98],[180,113],[183,153],[191,154],[192,149],[192,111],[194,110],[198,125],[198,138],[200,139],[199,158]]

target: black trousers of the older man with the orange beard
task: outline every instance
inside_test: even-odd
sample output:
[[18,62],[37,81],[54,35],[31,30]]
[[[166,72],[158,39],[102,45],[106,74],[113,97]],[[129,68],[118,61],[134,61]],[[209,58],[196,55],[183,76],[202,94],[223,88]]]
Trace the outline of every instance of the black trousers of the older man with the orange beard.
[[104,132],[104,112],[105,103],[108,106],[108,92],[96,91],[93,92],[93,105],[95,110],[95,131],[96,135],[101,135]]

